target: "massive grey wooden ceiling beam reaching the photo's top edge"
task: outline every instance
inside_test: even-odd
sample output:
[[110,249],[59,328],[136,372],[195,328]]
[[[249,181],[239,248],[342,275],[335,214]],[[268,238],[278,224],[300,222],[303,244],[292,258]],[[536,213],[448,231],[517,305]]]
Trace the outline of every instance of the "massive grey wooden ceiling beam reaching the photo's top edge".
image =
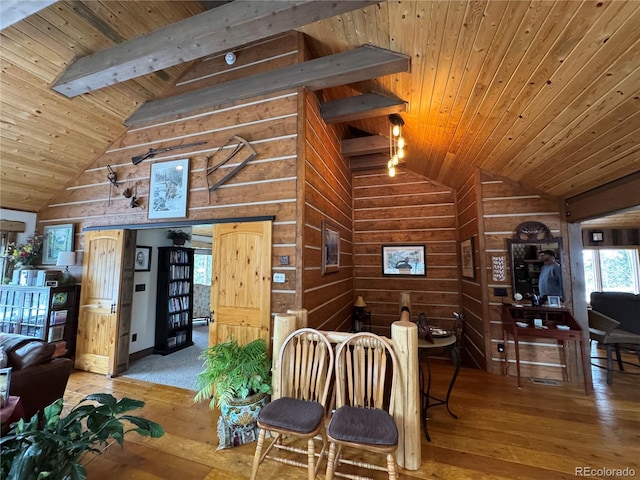
[[67,97],[74,97],[374,3],[370,0],[243,0],[226,3],[79,58],[52,88]]

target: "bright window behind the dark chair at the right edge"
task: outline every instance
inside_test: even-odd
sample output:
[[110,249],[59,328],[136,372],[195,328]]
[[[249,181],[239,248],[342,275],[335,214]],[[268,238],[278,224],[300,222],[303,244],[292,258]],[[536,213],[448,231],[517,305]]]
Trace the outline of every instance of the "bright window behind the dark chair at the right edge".
[[591,292],[640,293],[637,248],[585,248],[582,255],[587,303]]

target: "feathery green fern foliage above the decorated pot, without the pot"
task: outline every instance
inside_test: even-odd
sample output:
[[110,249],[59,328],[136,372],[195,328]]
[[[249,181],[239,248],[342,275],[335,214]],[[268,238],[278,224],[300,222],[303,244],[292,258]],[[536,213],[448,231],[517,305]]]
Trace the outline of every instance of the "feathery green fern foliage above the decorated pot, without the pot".
[[271,394],[271,361],[264,339],[246,345],[235,339],[218,343],[204,350],[200,359],[204,370],[196,379],[196,402],[210,400],[209,408],[224,410],[234,400]]

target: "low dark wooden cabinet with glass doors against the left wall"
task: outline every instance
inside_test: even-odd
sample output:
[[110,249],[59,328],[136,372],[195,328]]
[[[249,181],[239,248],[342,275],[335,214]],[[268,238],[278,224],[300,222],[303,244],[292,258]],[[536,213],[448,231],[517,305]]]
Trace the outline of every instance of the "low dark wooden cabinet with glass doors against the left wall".
[[0,331],[66,342],[73,358],[78,330],[77,285],[69,287],[0,286]]

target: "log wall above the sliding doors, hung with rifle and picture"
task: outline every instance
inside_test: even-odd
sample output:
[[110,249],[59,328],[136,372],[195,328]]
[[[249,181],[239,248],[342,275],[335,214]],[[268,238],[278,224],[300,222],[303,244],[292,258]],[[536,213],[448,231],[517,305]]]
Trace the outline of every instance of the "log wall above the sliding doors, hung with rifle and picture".
[[[187,72],[167,95],[248,76],[262,69],[297,63],[304,56],[301,45],[299,34],[283,35],[236,51],[238,61],[233,66],[226,65],[224,54],[205,58]],[[75,249],[82,250],[83,229],[87,227],[145,224],[151,228],[173,220],[185,223],[211,220],[213,223],[230,218],[274,216],[272,265],[274,271],[285,273],[286,282],[274,284],[271,308],[273,312],[284,312],[297,306],[297,273],[302,264],[296,231],[301,96],[302,91],[283,91],[129,129],[68,185],[62,196],[39,212],[38,229],[42,231],[45,225],[73,223]],[[249,140],[257,156],[210,193],[206,178],[207,157],[215,155],[234,135]],[[131,161],[132,156],[143,154],[149,148],[199,141],[206,144],[158,154],[138,165]],[[182,158],[190,159],[186,218],[149,220],[151,165]],[[229,161],[220,171],[227,173],[237,163],[237,160]],[[117,175],[118,187],[107,180],[108,166]],[[125,188],[132,189],[137,195],[140,208],[130,207],[130,199],[122,196]],[[285,255],[289,256],[286,266],[280,262],[280,257]]]

